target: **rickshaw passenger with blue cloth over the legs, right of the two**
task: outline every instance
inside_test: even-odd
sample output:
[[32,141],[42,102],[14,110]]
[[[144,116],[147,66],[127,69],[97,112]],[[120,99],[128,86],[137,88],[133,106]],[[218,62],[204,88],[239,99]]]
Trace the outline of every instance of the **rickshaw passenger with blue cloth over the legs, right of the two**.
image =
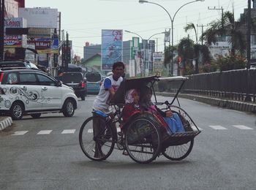
[[181,122],[177,113],[173,113],[171,110],[163,112],[156,105],[151,102],[152,90],[146,87],[143,89],[143,96],[140,101],[140,107],[142,110],[150,111],[151,113],[159,113],[164,118],[165,123],[167,123],[168,134],[175,134],[176,132],[185,132],[184,126]]

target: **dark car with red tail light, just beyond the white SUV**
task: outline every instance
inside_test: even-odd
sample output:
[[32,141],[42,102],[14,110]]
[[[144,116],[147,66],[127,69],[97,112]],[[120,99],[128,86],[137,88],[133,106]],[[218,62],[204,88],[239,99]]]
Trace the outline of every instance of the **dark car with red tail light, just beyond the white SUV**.
[[67,86],[74,89],[75,95],[85,100],[87,95],[86,91],[86,80],[83,78],[83,73],[81,72],[62,72],[59,76],[59,80],[62,81]]

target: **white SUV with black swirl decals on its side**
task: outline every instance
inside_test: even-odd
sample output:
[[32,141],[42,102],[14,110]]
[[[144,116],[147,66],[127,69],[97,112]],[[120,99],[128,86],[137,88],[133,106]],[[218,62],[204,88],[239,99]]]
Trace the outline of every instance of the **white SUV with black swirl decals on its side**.
[[41,113],[61,112],[72,117],[78,97],[72,88],[45,72],[34,69],[0,70],[0,112],[17,120],[24,114],[39,118]]

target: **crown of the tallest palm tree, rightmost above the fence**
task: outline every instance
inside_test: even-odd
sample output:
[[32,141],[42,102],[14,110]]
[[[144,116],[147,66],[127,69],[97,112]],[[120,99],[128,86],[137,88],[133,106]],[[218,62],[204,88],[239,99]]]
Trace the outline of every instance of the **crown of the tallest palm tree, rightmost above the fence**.
[[246,50],[246,39],[244,39],[244,34],[241,30],[243,23],[244,19],[235,21],[233,13],[225,12],[223,20],[219,19],[211,22],[210,28],[202,34],[202,37],[208,45],[211,45],[211,43],[215,44],[219,37],[230,36],[228,42],[231,44],[231,55],[235,55],[236,50],[244,53]]

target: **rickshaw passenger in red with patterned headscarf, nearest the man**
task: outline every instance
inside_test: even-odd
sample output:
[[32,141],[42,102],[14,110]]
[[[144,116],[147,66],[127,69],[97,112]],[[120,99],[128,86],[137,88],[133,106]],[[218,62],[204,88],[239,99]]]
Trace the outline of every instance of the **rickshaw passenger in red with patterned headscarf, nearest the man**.
[[125,99],[125,106],[122,111],[122,118],[125,123],[128,121],[130,116],[140,111],[140,107],[139,107],[140,94],[137,89],[130,89],[125,94],[124,99]]

